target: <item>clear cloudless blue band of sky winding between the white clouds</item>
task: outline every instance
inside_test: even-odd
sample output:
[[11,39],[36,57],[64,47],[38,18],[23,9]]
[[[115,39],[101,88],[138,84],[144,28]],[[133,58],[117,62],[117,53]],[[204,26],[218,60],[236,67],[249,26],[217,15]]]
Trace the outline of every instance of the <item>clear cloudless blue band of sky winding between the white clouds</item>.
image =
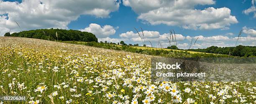
[[[230,3],[232,2],[232,3]],[[116,12],[110,13],[110,18],[97,18],[92,15],[81,15],[78,20],[72,21],[68,27],[70,29],[79,30],[84,28],[84,26],[88,26],[90,23],[97,23],[99,25],[112,25],[114,27],[119,27],[116,32],[116,35],[113,37],[118,37],[119,34],[134,31],[134,27],[140,28],[143,30],[150,31],[159,31],[160,33],[169,32],[170,29],[175,30],[177,33],[184,35],[204,35],[204,36],[212,36],[212,35],[221,35],[228,32],[238,33],[242,27],[255,27],[256,19],[253,18],[253,14],[245,15],[243,14],[243,10],[251,7],[251,1],[247,0],[242,3],[242,0],[217,0],[215,5],[207,5],[195,7],[196,9],[204,9],[205,7],[228,7],[231,10],[231,14],[237,17],[238,23],[230,26],[229,30],[187,30],[182,29],[178,26],[168,26],[168,25],[148,25],[143,24],[141,20],[137,20],[138,15],[131,9],[131,7],[126,7],[124,5],[120,5],[120,8]],[[254,21],[254,22],[253,22]]]

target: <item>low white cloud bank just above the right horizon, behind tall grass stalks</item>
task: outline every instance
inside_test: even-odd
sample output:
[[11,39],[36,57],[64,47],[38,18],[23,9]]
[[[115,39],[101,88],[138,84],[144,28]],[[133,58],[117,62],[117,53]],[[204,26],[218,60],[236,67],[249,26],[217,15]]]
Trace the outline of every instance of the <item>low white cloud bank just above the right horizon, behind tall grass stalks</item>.
[[[139,32],[140,34],[142,32]],[[145,42],[146,45],[152,44],[153,47],[160,47],[159,42],[161,43],[161,46],[163,48],[168,47],[170,45],[176,45],[174,42],[169,43],[167,37],[170,37],[169,33],[161,34],[157,31],[143,31],[145,35]],[[145,34],[146,33],[146,34]],[[152,38],[152,34],[154,34],[154,38]],[[234,35],[233,33],[229,32],[225,35],[214,35],[214,36],[205,36],[205,35],[197,35],[197,36],[184,36],[181,34],[176,34],[176,40],[177,40],[177,47],[180,49],[188,49],[190,48],[207,48],[210,46],[218,46],[218,47],[234,47],[237,41],[238,37],[230,37],[230,35]],[[122,33],[119,35],[122,40],[125,40],[126,43],[138,43],[140,45],[143,45],[143,38],[139,37],[137,33],[134,33],[133,31],[128,31],[125,33]],[[151,38],[148,38],[146,36],[151,36]],[[171,37],[172,38],[172,37]],[[195,40],[198,38],[197,42]],[[192,41],[193,40],[193,41]],[[151,43],[150,43],[150,42]],[[192,41],[192,43],[191,43]],[[240,37],[238,40],[237,45],[250,45],[255,46],[256,37]]]

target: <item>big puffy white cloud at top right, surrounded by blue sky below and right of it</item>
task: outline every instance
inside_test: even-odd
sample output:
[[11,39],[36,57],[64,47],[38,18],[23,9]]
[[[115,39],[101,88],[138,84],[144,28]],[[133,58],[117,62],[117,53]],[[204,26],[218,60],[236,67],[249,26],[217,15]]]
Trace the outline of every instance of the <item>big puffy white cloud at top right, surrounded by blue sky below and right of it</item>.
[[175,25],[192,30],[227,30],[231,24],[238,23],[227,7],[195,9],[195,5],[213,4],[213,0],[123,0],[123,5],[130,6],[139,15],[138,19],[151,25]]

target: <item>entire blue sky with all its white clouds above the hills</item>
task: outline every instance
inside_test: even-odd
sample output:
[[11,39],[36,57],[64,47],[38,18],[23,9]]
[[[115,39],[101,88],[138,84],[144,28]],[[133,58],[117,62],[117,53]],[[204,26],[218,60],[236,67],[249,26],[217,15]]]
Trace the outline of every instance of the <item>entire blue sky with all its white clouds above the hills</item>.
[[134,30],[134,27],[142,27],[148,46],[149,40],[153,47],[159,47],[158,42],[167,47],[169,43],[164,37],[172,29],[179,34],[178,47],[187,49],[191,40],[195,41],[197,37],[199,41],[192,48],[234,46],[239,31],[243,29],[238,44],[256,45],[256,0],[105,0],[103,3],[101,0],[67,0],[62,5],[58,0],[0,2],[1,35],[10,30],[19,32],[20,29],[13,24],[17,21],[22,30],[51,27],[73,29],[92,32],[99,41],[117,43],[124,40],[142,45]]

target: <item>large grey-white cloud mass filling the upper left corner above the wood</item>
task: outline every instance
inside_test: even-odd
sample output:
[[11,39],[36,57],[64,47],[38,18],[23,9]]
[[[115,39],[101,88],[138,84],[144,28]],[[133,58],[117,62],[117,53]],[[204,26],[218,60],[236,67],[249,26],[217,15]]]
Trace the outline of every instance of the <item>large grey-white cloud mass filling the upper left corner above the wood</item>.
[[[67,29],[80,15],[109,17],[119,9],[116,0],[23,0],[21,3],[0,0],[0,36],[38,28]],[[2,15],[2,16],[1,16]],[[6,15],[6,16],[3,16]]]

